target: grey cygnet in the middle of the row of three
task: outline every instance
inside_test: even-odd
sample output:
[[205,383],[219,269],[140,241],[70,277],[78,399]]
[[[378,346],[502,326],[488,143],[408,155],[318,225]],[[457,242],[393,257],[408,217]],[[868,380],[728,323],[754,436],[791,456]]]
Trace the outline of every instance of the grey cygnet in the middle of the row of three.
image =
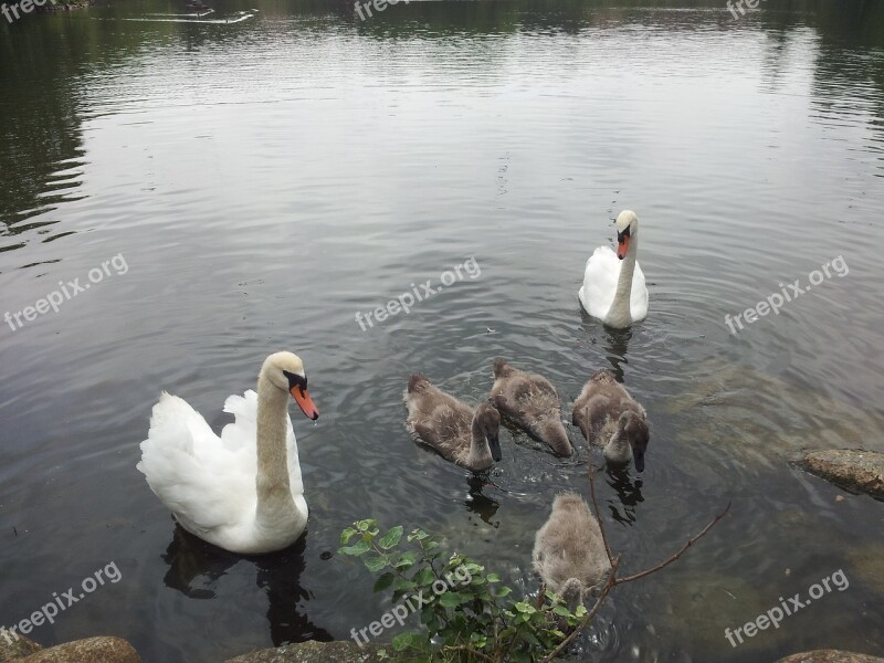
[[561,423],[559,394],[545,377],[528,375],[497,359],[488,400],[516,425],[546,442],[557,454],[566,457],[573,454]]

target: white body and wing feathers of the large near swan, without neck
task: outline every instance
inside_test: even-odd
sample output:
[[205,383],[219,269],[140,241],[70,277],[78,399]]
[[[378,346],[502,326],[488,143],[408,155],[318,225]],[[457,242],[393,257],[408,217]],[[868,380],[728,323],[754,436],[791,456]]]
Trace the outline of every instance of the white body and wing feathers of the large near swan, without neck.
[[257,393],[250,389],[229,397],[224,412],[235,419],[219,438],[185,400],[164,392],[154,406],[137,469],[181,526],[203,540],[242,554],[291,545],[307,522],[292,420],[286,413],[288,476],[297,513],[274,532],[256,527]]

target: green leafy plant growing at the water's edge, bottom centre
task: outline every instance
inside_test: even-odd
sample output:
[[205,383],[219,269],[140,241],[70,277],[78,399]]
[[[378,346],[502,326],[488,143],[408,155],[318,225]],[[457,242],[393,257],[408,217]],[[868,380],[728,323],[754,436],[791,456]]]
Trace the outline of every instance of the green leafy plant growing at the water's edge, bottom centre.
[[375,591],[392,589],[393,603],[421,606],[425,631],[397,635],[392,652],[382,650],[381,657],[529,663],[556,649],[587,614],[583,606],[571,613],[551,592],[536,601],[517,599],[497,573],[485,572],[465,555],[444,551],[421,529],[404,538],[410,549],[400,549],[402,526],[381,536],[373,519],[354,523],[340,537],[339,552],[360,557],[380,573]]

